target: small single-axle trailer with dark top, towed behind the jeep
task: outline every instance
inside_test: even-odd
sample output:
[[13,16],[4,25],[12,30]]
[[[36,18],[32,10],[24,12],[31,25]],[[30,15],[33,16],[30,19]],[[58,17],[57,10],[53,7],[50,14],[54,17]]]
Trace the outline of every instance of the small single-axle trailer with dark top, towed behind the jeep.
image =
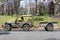
[[40,27],[44,27],[46,31],[53,31],[57,26],[57,22],[40,22]]

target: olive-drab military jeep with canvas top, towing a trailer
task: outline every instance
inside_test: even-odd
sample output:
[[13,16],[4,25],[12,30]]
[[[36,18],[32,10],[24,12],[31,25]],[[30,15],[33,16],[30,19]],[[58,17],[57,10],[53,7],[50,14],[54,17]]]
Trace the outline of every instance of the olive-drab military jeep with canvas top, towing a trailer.
[[24,31],[29,31],[33,26],[31,19],[31,15],[22,15],[21,17],[17,17],[14,22],[5,22],[2,27],[4,31],[11,31],[12,28],[22,28]]

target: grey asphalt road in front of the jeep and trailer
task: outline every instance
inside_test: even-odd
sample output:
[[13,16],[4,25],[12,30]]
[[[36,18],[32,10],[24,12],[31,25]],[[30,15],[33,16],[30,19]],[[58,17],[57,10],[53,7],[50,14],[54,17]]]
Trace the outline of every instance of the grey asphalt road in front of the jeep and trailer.
[[60,31],[0,31],[0,40],[60,40]]

